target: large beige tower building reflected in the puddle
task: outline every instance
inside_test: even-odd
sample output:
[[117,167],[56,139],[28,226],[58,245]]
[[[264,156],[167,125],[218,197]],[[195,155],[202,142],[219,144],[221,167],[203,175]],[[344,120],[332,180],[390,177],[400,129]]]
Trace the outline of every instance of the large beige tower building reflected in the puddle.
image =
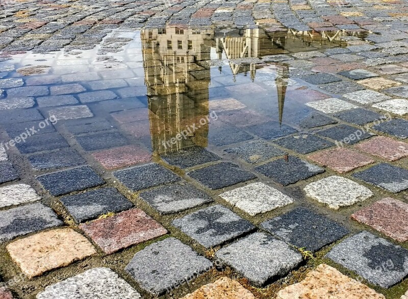
[[[209,114],[212,31],[167,27],[141,32],[152,150],[159,155],[207,146],[208,123],[187,138],[177,136]],[[170,141],[173,142],[170,142]]]

